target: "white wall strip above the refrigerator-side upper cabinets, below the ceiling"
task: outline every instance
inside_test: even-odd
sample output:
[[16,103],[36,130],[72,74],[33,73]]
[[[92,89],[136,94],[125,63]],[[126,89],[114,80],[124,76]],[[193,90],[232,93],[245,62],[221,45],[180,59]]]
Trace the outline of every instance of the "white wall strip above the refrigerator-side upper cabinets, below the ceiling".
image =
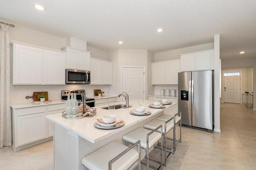
[[203,51],[203,50],[213,49],[213,48],[214,48],[214,43],[206,43],[206,44],[196,45],[196,46],[191,46],[186,48],[163,51],[163,52],[155,53],[155,62],[166,61],[171,59],[180,59],[180,54],[190,53],[195,51]]

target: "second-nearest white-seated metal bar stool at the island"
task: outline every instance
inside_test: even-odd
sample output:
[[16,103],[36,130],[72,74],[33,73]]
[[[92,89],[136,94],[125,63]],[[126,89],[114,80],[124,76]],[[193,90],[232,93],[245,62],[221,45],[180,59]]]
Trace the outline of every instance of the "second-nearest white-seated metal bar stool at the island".
[[[160,133],[157,132],[158,129],[160,130]],[[147,163],[142,162],[142,164],[145,164],[147,166],[147,170],[148,168],[153,168],[153,169],[160,169],[162,168],[162,125],[158,126],[156,129],[154,130],[149,130],[146,128],[136,128],[135,130],[133,130],[132,132],[129,132],[127,134],[125,134],[123,136],[123,140],[126,142],[126,145],[128,143],[130,144],[134,144],[134,142],[136,142],[137,140],[140,140],[140,147],[144,150],[146,150],[146,158],[147,158]],[[152,146],[154,146],[158,141],[161,141],[161,161],[157,161],[154,160],[152,158],[149,157],[149,150]],[[152,160],[158,164],[160,164],[160,166],[158,168],[149,165],[149,160]]]

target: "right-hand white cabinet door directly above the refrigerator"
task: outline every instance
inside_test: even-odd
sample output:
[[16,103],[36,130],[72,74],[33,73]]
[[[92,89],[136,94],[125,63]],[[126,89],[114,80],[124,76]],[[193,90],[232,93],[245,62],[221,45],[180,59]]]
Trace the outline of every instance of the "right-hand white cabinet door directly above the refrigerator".
[[211,69],[211,51],[195,53],[195,70]]

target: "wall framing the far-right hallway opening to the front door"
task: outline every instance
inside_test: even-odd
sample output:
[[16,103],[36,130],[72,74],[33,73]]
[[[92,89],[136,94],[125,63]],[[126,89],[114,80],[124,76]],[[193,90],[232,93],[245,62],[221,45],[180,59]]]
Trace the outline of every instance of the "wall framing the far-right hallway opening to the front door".
[[[256,89],[256,56],[250,59],[222,61],[222,68],[253,67],[253,91]],[[253,110],[256,111],[256,95],[253,95]]]

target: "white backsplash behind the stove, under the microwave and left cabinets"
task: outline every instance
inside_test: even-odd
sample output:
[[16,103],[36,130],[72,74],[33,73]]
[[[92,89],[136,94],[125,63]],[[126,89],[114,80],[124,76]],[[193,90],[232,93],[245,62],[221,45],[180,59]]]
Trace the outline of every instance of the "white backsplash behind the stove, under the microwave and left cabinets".
[[59,100],[62,90],[80,89],[85,89],[87,97],[94,97],[94,89],[101,89],[104,95],[117,95],[116,88],[111,88],[111,85],[10,85],[10,103],[32,102],[33,99],[26,99],[26,96],[33,96],[33,92],[40,91],[48,92],[48,100]]

